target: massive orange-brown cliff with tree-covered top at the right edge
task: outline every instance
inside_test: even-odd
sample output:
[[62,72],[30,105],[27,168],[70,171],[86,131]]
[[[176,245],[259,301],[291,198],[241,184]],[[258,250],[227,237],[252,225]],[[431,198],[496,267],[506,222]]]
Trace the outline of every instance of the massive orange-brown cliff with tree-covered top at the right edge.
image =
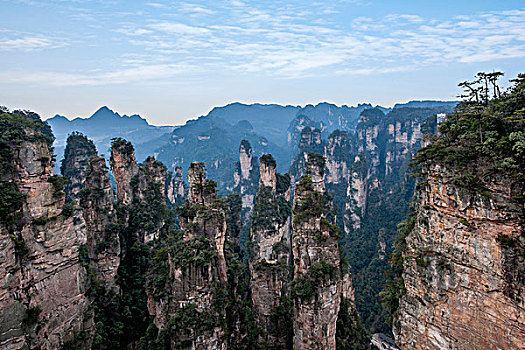
[[525,75],[512,82],[459,104],[415,158],[414,212],[383,291],[406,349],[525,346]]

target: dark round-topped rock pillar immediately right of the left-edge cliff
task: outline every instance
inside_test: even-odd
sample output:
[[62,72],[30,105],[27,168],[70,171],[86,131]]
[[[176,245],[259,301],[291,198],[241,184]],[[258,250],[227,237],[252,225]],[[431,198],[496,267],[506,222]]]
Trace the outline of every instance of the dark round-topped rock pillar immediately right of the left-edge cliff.
[[116,293],[120,238],[114,228],[115,196],[107,169],[91,140],[80,133],[68,137],[60,170],[66,179],[64,192],[66,200],[71,201],[68,205],[72,206],[81,249],[87,248],[82,259],[89,259],[101,286]]

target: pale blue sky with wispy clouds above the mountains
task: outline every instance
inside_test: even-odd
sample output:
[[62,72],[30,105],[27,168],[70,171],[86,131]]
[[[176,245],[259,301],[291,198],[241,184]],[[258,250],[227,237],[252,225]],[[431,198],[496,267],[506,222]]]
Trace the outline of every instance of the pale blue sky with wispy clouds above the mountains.
[[0,105],[178,125],[231,102],[454,100],[525,72],[523,0],[0,0]]

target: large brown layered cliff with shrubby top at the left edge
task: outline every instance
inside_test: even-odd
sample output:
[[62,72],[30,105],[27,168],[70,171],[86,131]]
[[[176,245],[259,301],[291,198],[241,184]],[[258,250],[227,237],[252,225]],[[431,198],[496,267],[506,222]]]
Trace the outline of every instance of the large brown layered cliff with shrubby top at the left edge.
[[[8,125],[1,132],[0,346],[56,349],[93,328],[80,227],[64,210],[45,125],[20,114],[0,118]],[[80,348],[89,346],[88,338]]]

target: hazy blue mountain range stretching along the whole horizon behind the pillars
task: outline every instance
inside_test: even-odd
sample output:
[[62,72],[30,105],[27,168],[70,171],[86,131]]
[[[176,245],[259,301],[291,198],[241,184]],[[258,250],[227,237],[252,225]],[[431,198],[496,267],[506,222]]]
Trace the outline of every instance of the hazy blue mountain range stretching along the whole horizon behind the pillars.
[[122,137],[133,143],[139,162],[153,155],[170,170],[181,166],[184,172],[191,162],[204,162],[209,176],[224,189],[233,181],[234,164],[238,161],[239,145],[244,139],[250,142],[255,157],[271,153],[277,160],[278,171],[285,173],[297,153],[301,130],[306,126],[319,129],[326,139],[337,129],[353,134],[365,110],[376,109],[385,115],[395,111],[390,115],[402,117],[422,112],[415,111],[418,108],[427,109],[424,113],[446,113],[452,111],[455,104],[411,101],[396,104],[391,109],[369,103],[350,107],[326,102],[304,107],[231,103],[215,107],[206,116],[178,127],[153,126],[139,115],[120,115],[102,107],[89,118],[68,120],[57,115],[47,123],[56,136],[57,168],[67,136],[80,131],[92,139],[106,157],[109,156],[111,138]]

